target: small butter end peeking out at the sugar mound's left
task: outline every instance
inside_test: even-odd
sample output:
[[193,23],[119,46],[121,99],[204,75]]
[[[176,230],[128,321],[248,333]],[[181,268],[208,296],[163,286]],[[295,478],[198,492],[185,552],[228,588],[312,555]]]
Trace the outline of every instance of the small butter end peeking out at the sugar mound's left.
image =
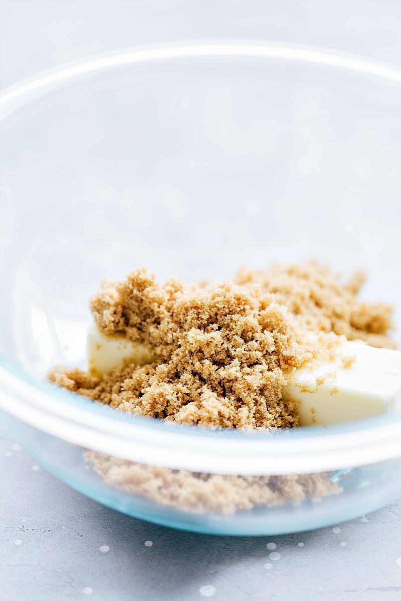
[[147,346],[132,342],[122,334],[106,335],[91,326],[87,337],[88,365],[92,373],[100,376],[130,359],[136,365],[152,363],[154,357]]

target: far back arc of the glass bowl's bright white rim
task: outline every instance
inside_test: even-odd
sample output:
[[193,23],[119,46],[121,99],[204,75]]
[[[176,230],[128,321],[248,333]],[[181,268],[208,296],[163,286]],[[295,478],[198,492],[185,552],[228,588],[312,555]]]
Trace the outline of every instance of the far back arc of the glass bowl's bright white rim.
[[179,58],[206,58],[207,56],[284,59],[320,64],[321,66],[338,67],[361,75],[371,75],[401,84],[401,69],[397,65],[339,50],[257,40],[183,40],[170,43],[145,44],[97,53],[24,78],[0,92],[0,111],[3,111],[2,114],[0,112],[0,119],[7,116],[4,114],[5,109],[8,107],[15,108],[17,101],[29,102],[31,94],[46,93],[46,90],[50,91],[54,85],[79,79],[89,73],[139,63]]

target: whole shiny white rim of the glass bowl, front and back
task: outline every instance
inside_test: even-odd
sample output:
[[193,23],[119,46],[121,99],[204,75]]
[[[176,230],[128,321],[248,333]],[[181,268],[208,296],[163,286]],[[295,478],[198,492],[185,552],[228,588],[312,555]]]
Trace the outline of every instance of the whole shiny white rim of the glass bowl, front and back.
[[[401,69],[369,58],[250,40],[151,44],[90,56],[23,79],[0,94],[0,121],[38,96],[86,75],[181,58],[262,58],[349,70],[401,84]],[[273,433],[210,430],[127,415],[31,376],[0,355],[0,407],[72,444],[124,459],[220,474],[296,474],[401,456],[401,415]],[[57,402],[55,402],[57,400]]]

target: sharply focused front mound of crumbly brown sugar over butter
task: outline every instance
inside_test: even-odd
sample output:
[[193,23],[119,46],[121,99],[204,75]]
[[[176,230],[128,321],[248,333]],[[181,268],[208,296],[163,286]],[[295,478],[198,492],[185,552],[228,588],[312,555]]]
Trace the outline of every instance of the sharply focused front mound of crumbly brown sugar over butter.
[[54,370],[51,380],[130,413],[211,427],[292,427],[287,376],[313,353],[296,341],[293,318],[260,287],[203,287],[146,270],[103,284],[91,302],[106,334],[146,344],[159,362],[125,364],[96,380]]

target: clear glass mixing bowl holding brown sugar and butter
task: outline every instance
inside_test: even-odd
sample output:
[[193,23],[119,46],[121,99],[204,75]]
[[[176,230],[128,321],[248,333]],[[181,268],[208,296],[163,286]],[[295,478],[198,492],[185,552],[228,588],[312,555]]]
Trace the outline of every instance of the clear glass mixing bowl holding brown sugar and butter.
[[397,498],[400,416],[208,431],[124,415],[45,376],[85,365],[88,297],[136,266],[195,281],[315,255],[367,267],[366,296],[400,306],[400,84],[363,58],[213,42],[127,49],[5,90],[10,435],[86,495],[201,532],[316,528]]

